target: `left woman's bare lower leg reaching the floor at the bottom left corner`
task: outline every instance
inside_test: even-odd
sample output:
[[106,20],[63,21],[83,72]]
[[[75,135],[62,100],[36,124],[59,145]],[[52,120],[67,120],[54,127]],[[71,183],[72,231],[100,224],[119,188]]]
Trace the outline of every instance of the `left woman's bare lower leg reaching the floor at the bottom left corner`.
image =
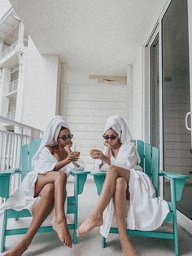
[[24,251],[28,249],[28,245],[31,244],[33,236],[37,233],[41,223],[50,214],[50,211],[54,206],[54,184],[46,184],[39,193],[40,199],[37,201],[33,209],[33,219],[28,227],[28,232],[24,235],[21,241],[15,245],[15,247],[7,251],[4,256],[20,256],[24,254]]

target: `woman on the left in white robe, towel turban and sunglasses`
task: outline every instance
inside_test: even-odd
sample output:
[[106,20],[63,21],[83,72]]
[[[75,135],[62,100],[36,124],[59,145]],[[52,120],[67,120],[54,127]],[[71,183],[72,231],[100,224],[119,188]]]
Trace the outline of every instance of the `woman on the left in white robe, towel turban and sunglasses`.
[[84,163],[78,160],[78,152],[71,151],[72,135],[64,117],[52,118],[46,127],[40,148],[32,159],[32,171],[25,175],[20,188],[2,205],[0,212],[6,209],[28,209],[33,220],[28,232],[7,256],[22,255],[41,223],[52,210],[55,215],[53,228],[60,241],[72,247],[68,232],[64,202],[66,199],[66,183],[72,169],[84,169]]

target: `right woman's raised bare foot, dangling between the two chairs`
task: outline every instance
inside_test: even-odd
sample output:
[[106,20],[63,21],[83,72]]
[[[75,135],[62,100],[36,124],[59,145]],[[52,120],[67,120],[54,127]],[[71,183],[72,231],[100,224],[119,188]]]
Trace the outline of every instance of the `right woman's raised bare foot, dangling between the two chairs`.
[[91,231],[94,227],[99,227],[103,224],[103,218],[95,218],[91,215],[89,218],[85,219],[85,222],[77,229],[77,236],[84,236],[86,233]]

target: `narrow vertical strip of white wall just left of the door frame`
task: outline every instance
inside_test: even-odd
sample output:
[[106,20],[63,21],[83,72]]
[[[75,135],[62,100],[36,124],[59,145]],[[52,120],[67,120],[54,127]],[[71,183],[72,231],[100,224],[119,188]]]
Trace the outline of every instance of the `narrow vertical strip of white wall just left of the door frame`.
[[133,139],[143,139],[143,88],[142,88],[142,47],[137,51],[137,58],[132,68],[132,136]]

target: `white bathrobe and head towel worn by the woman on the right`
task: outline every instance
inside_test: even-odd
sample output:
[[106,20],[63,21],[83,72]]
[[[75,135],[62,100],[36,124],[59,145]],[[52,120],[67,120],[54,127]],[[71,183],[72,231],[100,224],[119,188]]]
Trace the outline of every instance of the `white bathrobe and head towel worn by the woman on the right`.
[[[116,130],[122,143],[115,157],[111,154],[111,165],[130,170],[129,193],[127,201],[127,228],[150,231],[158,228],[169,213],[168,202],[155,195],[155,188],[147,174],[139,166],[140,157],[131,142],[129,128],[122,117],[111,116],[107,119],[104,133],[108,129]],[[107,237],[114,218],[114,201],[107,205],[103,213],[102,236]]]

